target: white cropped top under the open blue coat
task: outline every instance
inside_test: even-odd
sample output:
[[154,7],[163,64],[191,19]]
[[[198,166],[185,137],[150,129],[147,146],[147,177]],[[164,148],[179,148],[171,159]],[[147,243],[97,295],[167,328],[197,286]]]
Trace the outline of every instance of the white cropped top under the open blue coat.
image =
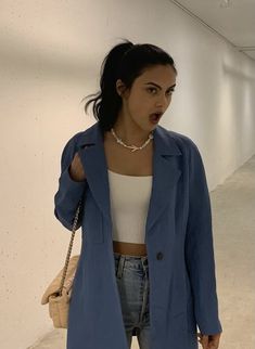
[[152,176],[127,176],[107,171],[113,240],[145,244],[145,222]]

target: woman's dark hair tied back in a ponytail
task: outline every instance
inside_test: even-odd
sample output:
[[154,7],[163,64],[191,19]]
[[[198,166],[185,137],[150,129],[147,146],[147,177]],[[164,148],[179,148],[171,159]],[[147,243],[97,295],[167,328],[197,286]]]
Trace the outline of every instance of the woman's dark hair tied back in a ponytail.
[[89,104],[93,102],[93,116],[99,121],[102,133],[111,130],[122,108],[123,100],[116,91],[117,79],[130,89],[145,68],[157,64],[170,65],[177,74],[173,57],[161,48],[151,43],[133,44],[127,39],[124,41],[112,48],[103,60],[100,72],[101,91],[86,96],[94,96],[85,104],[85,112],[87,114]]

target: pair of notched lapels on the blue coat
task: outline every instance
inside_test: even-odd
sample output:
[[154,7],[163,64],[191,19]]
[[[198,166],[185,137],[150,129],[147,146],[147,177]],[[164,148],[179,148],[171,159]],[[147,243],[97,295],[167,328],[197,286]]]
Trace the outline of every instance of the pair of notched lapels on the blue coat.
[[[149,204],[145,230],[150,234],[152,228],[161,218],[167,204],[174,205],[174,186],[181,174],[176,156],[181,155],[179,147],[167,130],[158,126],[153,130],[154,152],[153,152],[153,181]],[[87,181],[91,193],[103,212],[104,217],[111,220],[110,186],[107,164],[103,146],[103,138],[99,128],[99,122],[93,125],[82,144],[93,144],[82,152],[81,163],[85,167]]]

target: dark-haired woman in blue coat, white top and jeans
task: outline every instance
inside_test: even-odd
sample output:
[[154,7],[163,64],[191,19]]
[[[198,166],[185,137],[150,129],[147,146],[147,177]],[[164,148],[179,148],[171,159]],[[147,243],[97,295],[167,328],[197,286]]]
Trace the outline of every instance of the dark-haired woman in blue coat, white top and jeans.
[[[82,246],[67,349],[216,349],[218,319],[209,195],[186,135],[158,125],[176,87],[171,56],[153,44],[115,46],[93,102],[98,122],[61,160],[55,216]],[[196,325],[201,333],[196,333]]]

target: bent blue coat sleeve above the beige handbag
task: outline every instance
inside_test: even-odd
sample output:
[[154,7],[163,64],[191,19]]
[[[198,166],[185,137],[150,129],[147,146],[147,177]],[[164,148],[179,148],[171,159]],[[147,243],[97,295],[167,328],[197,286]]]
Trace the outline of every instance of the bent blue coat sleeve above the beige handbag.
[[81,203],[81,209],[79,211],[76,229],[79,229],[81,225],[82,199],[88,185],[87,180],[78,182],[73,180],[69,174],[69,165],[75,153],[78,151],[76,145],[77,134],[68,140],[62,152],[59,189],[54,195],[54,215],[56,219],[71,231],[79,203]]

